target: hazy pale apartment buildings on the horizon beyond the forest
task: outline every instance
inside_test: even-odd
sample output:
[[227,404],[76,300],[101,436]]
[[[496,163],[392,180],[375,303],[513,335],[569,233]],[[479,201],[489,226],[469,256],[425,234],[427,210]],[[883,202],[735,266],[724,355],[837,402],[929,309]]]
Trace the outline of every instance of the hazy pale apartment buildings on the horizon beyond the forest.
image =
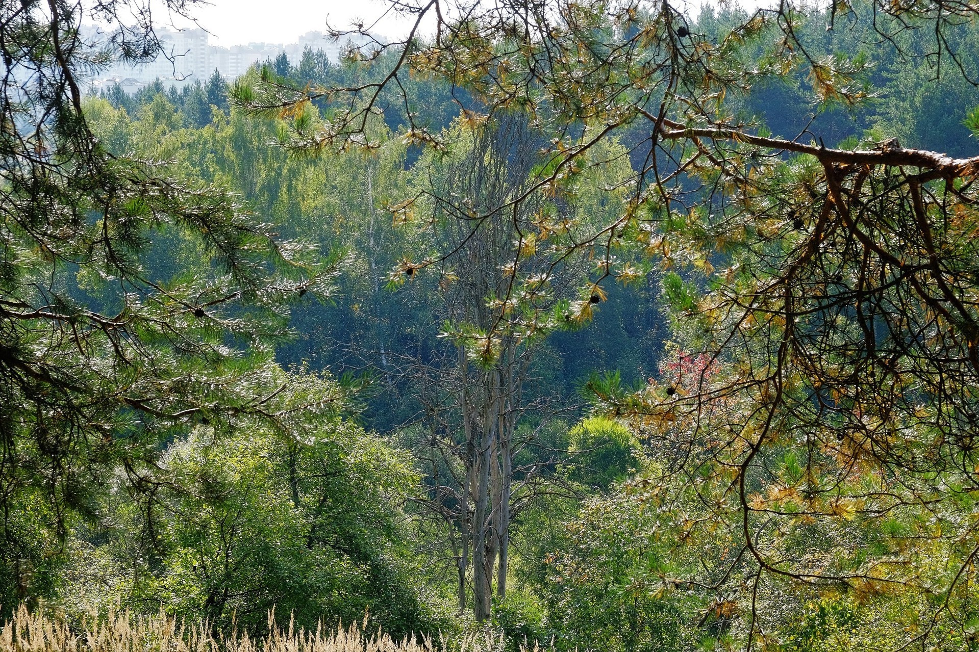
[[[99,39],[97,27],[84,27],[88,39]],[[225,48],[208,43],[209,34],[204,29],[158,29],[157,36],[163,43],[163,52],[155,61],[135,66],[117,64],[107,70],[100,70],[88,79],[93,91],[109,84],[119,83],[126,92],[134,92],[155,79],[175,84],[178,88],[194,80],[204,83],[214,70],[227,80],[245,74],[256,62],[274,60],[285,52],[289,60],[298,64],[303,50],[322,50],[327,58],[338,63],[350,47],[351,39],[334,41],[320,31],[307,31],[297,43],[249,43]],[[364,43],[366,39],[354,42]]]

